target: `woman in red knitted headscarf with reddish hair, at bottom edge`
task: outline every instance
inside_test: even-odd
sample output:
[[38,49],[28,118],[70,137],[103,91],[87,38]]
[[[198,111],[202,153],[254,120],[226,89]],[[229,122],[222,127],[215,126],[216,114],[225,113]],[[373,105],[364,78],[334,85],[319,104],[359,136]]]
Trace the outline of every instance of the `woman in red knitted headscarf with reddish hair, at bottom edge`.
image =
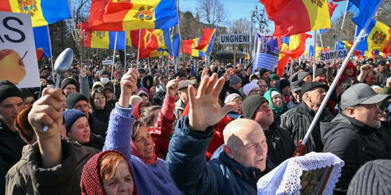
[[124,155],[115,150],[95,154],[80,180],[82,195],[137,194],[131,168]]

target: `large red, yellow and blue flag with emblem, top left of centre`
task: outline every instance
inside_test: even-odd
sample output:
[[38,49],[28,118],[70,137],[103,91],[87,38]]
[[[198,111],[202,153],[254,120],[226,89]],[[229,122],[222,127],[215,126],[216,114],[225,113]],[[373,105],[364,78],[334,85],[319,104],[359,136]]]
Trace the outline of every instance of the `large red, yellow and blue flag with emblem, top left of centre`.
[[162,29],[178,24],[175,0],[131,0],[116,3],[112,0],[91,2],[88,22],[91,30],[126,31],[137,29]]

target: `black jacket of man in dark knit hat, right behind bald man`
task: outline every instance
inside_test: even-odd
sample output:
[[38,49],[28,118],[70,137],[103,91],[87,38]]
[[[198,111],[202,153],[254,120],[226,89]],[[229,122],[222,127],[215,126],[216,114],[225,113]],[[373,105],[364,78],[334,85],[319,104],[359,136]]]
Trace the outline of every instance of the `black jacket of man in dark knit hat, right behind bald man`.
[[280,128],[276,122],[269,126],[269,131],[264,130],[267,143],[267,156],[271,162],[278,166],[283,161],[293,156],[296,145],[287,129]]

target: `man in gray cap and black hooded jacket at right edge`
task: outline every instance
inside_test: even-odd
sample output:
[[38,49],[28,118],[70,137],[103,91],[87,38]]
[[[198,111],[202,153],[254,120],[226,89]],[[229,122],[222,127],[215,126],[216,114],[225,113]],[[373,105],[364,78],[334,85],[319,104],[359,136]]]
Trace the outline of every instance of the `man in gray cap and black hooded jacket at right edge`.
[[382,144],[378,103],[390,95],[377,95],[364,83],[352,85],[341,97],[339,113],[330,122],[321,122],[323,152],[345,161],[334,193],[346,194],[352,177],[368,161],[387,158]]

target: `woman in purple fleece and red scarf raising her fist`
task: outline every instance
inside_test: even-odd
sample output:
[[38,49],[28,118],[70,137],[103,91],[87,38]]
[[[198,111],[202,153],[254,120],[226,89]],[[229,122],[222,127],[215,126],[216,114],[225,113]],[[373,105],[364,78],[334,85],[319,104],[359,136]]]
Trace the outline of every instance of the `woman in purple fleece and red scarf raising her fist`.
[[[122,94],[111,112],[104,151],[115,149],[126,157],[139,194],[181,194],[166,170],[165,161],[156,158],[149,132],[133,122],[130,96],[136,88],[136,69],[131,68],[121,80]],[[140,123],[139,123],[140,124]]]

